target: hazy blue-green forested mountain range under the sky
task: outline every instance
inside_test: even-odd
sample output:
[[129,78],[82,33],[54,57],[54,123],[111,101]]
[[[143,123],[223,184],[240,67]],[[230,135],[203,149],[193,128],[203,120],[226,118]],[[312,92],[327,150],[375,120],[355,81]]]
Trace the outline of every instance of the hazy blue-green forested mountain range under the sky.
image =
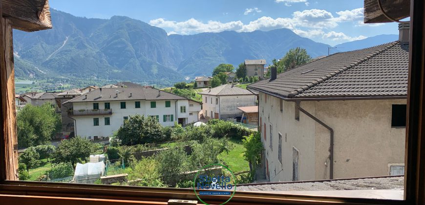
[[[123,16],[87,19],[54,9],[51,16],[53,29],[14,30],[16,77],[170,85],[209,76],[220,63],[236,67],[245,59],[271,62],[294,47],[305,48],[314,58],[327,55],[330,47],[289,29],[168,35],[162,28]],[[340,47],[376,45],[367,40]]]

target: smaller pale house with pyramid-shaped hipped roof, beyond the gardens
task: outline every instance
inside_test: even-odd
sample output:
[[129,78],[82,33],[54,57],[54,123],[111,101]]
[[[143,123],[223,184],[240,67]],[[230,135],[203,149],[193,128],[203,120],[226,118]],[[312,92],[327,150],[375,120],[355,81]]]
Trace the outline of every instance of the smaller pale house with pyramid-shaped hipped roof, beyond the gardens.
[[226,119],[242,115],[237,107],[254,106],[255,94],[249,90],[224,84],[199,94],[202,95],[202,114],[205,119]]

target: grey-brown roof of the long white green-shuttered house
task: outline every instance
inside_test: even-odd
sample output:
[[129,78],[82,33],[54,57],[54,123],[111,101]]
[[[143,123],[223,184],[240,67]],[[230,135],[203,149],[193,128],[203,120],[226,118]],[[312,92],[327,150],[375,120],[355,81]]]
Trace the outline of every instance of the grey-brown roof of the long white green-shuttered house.
[[[118,91],[118,92],[117,92]],[[117,95],[118,93],[118,95]],[[87,97],[85,97],[87,95]],[[73,98],[68,102],[103,102],[103,101],[128,101],[128,100],[190,100],[172,93],[161,91],[152,87],[118,87],[102,88]]]

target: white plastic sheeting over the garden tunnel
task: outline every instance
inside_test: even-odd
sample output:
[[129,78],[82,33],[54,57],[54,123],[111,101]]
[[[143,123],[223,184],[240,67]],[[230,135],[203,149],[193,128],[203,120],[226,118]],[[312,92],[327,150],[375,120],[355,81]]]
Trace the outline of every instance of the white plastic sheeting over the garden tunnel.
[[105,174],[105,163],[78,163],[75,167],[74,183],[93,184]]

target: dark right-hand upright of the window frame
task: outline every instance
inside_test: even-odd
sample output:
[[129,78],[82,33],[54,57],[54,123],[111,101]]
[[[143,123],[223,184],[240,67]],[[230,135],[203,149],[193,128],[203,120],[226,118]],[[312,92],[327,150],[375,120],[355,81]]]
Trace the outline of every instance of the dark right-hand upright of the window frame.
[[409,78],[407,87],[406,204],[425,204],[425,3],[410,5]]

